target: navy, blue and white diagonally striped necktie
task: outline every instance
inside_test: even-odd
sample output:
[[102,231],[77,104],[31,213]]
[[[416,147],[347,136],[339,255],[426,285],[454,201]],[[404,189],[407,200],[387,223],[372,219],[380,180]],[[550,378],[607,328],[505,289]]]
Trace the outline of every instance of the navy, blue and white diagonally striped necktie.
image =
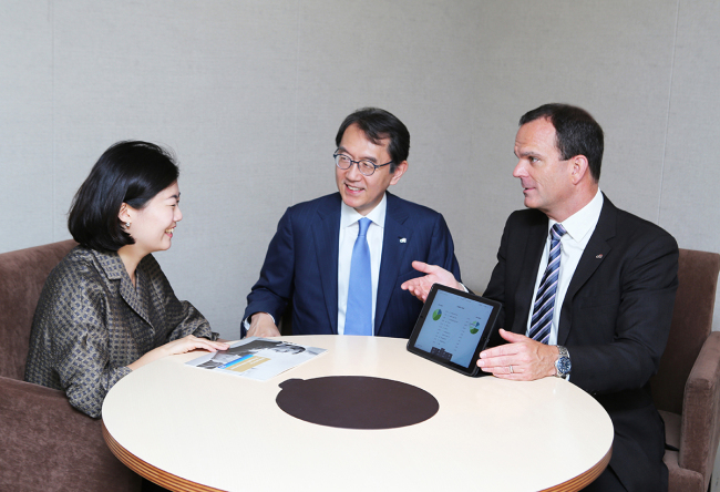
[[542,344],[547,344],[551,337],[555,291],[560,275],[560,237],[565,233],[565,227],[562,224],[555,224],[551,229],[551,253],[547,257],[547,268],[543,274],[543,281],[541,281],[533,305],[533,319],[527,336]]

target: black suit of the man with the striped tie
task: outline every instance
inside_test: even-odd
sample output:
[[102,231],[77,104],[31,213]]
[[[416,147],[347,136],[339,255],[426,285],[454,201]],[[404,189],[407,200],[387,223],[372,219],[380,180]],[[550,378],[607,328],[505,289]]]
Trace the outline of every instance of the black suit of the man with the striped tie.
[[[498,326],[516,334],[527,329],[547,221],[534,209],[510,216],[484,293],[503,303]],[[670,331],[677,271],[675,238],[605,197],[562,306],[557,342],[569,351],[570,382],[593,394],[610,416],[615,440],[609,467],[630,491],[668,486],[665,427],[649,380]],[[548,452],[562,460],[573,450]]]

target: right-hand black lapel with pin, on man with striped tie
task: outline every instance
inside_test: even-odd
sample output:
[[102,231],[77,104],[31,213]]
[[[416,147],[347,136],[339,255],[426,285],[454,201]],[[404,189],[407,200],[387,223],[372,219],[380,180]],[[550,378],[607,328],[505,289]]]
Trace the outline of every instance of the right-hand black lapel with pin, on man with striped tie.
[[608,239],[615,236],[617,223],[617,208],[603,194],[603,209],[597,221],[593,236],[585,246],[583,256],[575,268],[570,285],[567,287],[565,300],[563,301],[563,311],[560,312],[560,326],[557,330],[557,344],[563,345],[567,341],[570,332],[570,319],[573,314],[573,298],[578,290],[590,279],[595,270],[605,260],[611,249]]

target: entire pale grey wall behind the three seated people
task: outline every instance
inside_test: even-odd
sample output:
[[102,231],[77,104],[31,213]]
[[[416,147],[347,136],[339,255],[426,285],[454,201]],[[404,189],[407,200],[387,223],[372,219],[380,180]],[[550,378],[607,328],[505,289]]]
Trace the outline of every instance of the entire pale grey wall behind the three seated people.
[[[720,250],[711,203],[717,2],[4,1],[0,252],[69,237],[113,142],[178,156],[185,214],[157,254],[225,337],[286,207],[336,191],[335,134],[377,105],[412,135],[398,195],[441,212],[482,291],[507,215],[517,119],[551,101],[606,131],[601,187],[680,246]],[[39,197],[35,197],[38,195]],[[687,211],[692,211],[688,219]],[[717,316],[720,316],[718,314]]]

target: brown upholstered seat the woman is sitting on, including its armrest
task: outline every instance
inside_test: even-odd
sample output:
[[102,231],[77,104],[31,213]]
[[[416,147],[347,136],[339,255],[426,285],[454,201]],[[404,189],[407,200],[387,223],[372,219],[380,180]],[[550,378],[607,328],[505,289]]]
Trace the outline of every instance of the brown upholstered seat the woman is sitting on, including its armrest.
[[62,391],[22,380],[32,316],[50,270],[73,240],[0,254],[0,490],[140,491],[107,449],[101,421]]

